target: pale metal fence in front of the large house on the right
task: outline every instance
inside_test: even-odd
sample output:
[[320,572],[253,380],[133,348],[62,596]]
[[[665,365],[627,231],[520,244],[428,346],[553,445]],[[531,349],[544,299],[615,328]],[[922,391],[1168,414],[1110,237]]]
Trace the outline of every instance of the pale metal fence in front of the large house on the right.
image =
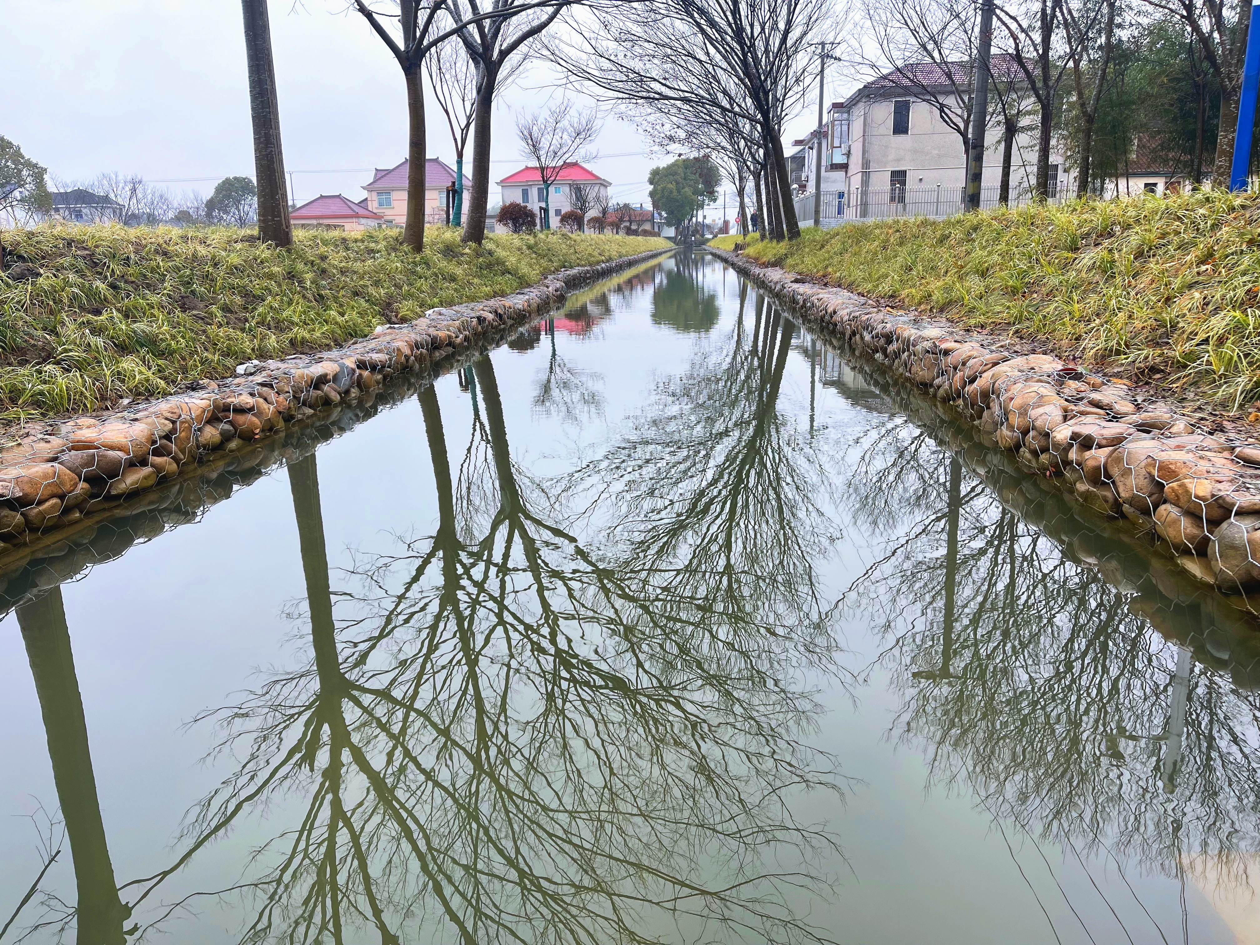
[[[988,209],[999,204],[997,184],[980,188],[980,209]],[[814,222],[814,193],[798,197],[796,219],[803,227]],[[1062,199],[1062,190],[1051,190],[1050,203],[1058,203]],[[1009,205],[1022,207],[1032,200],[1032,193],[1023,188],[1013,188]],[[966,208],[966,189],[963,186],[892,186],[892,188],[861,188],[856,186],[849,192],[824,190],[823,192],[823,228],[835,227],[840,223],[864,219],[892,219],[896,217],[930,217],[944,219],[963,213]]]

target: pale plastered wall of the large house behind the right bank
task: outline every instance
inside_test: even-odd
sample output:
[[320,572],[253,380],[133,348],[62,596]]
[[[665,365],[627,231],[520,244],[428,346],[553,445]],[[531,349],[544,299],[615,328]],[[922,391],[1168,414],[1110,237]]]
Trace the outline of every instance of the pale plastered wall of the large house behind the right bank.
[[[910,134],[892,134],[893,102],[905,93],[890,89],[885,94],[864,97],[850,107],[850,151],[845,189],[891,186],[891,171],[906,171],[907,188],[949,189],[960,192],[966,181],[966,156],[963,140],[949,127],[927,102],[910,100]],[[1002,125],[993,122],[985,134],[983,186],[997,186],[1002,179]],[[1016,137],[1012,154],[1012,190],[1021,185],[1032,189],[1036,178],[1037,140],[1034,131]],[[1060,168],[1058,188],[1070,186],[1058,149],[1051,151],[1051,164]],[[827,189],[827,188],[824,188]]]

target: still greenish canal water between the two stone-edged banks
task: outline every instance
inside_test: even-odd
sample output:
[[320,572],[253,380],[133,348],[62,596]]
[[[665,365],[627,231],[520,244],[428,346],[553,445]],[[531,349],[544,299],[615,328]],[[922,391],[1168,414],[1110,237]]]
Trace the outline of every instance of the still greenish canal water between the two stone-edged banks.
[[5,942],[1260,942],[1260,634],[713,257],[180,488],[9,576]]

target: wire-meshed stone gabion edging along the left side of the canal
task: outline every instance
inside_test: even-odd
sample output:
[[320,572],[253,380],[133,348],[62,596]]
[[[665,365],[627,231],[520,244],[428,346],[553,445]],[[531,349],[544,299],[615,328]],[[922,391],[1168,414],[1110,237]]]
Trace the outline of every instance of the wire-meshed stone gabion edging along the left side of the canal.
[[501,299],[430,309],[406,325],[383,325],[335,352],[251,362],[227,381],[203,381],[101,417],[28,428],[0,450],[0,567],[37,537],[113,508],[189,465],[239,451],[323,407],[353,404],[393,374],[537,318],[572,289],[664,252],[669,249],[563,270]]

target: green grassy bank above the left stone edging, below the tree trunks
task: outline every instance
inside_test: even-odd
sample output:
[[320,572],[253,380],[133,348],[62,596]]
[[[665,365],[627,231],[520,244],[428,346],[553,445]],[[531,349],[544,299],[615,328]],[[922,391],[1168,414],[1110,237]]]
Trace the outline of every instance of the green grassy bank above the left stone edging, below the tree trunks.
[[431,228],[297,233],[275,249],[236,229],[8,231],[0,273],[0,420],[88,412],[246,360],[319,352],[426,309],[489,299],[665,239],[494,234],[464,246]]

